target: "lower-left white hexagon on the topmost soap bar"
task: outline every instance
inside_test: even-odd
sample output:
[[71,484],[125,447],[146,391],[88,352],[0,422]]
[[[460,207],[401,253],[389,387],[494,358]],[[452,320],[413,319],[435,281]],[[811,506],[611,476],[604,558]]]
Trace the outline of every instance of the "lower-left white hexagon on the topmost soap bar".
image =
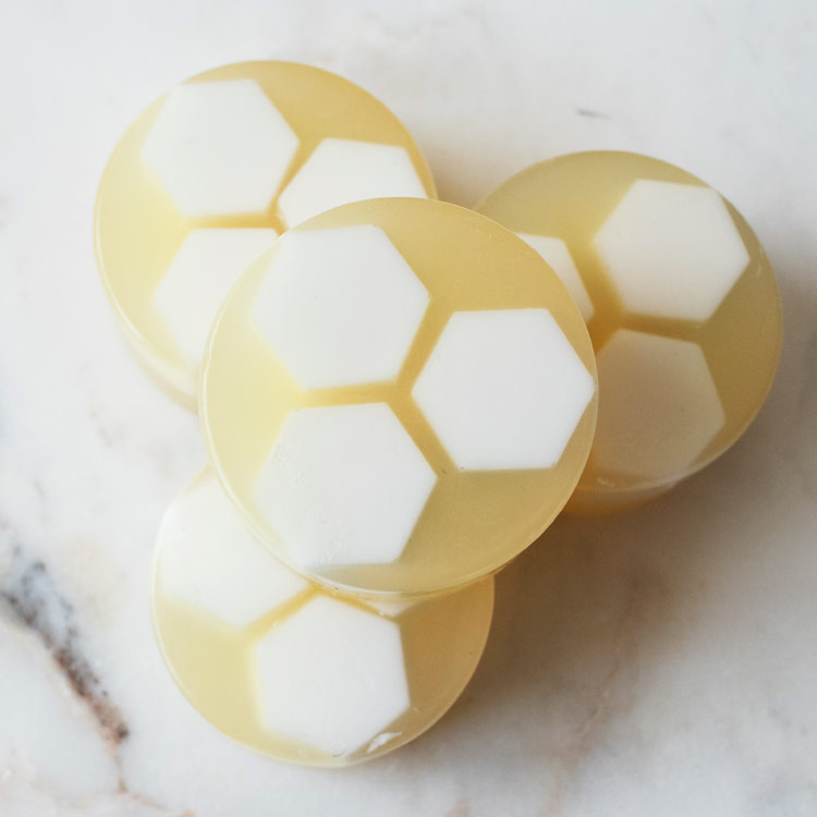
[[304,568],[393,562],[437,476],[385,403],[292,412],[254,487]]

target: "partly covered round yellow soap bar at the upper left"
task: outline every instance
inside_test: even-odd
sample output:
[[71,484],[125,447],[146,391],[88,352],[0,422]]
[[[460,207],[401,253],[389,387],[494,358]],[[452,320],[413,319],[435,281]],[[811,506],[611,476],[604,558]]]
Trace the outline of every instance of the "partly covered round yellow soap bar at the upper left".
[[156,100],[117,145],[97,264],[148,371],[193,407],[212,318],[278,234],[346,202],[434,195],[408,132],[353,83],[290,62],[224,65]]

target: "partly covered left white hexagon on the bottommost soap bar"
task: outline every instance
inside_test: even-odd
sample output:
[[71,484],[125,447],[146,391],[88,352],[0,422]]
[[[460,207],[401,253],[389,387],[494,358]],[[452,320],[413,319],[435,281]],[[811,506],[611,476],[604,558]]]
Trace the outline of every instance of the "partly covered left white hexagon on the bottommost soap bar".
[[309,586],[264,549],[211,475],[170,505],[158,547],[164,592],[235,627]]

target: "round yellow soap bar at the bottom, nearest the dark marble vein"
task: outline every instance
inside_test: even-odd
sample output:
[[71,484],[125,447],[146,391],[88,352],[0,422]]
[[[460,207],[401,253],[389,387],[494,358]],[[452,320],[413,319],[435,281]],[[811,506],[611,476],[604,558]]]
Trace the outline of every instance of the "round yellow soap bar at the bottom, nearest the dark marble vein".
[[281,760],[390,752],[456,700],[485,648],[493,580],[415,602],[320,589],[264,548],[204,471],[159,528],[156,635],[215,727]]

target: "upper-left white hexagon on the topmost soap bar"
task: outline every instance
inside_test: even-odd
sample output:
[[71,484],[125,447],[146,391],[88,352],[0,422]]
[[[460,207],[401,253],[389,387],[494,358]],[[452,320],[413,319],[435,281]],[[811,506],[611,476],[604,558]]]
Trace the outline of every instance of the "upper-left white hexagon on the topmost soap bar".
[[303,389],[392,380],[428,305],[373,224],[282,236],[253,322]]

